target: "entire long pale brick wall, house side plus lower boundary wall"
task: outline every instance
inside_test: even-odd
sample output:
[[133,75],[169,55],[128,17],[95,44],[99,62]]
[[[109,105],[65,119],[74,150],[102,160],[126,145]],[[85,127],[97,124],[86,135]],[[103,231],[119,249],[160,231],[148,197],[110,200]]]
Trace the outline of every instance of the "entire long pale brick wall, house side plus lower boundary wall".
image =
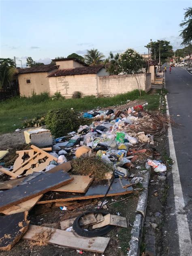
[[138,89],[138,84],[141,90],[149,91],[151,89],[151,74],[49,77],[50,94],[60,92],[66,98],[71,98],[75,91],[81,92],[84,96],[113,96]]

